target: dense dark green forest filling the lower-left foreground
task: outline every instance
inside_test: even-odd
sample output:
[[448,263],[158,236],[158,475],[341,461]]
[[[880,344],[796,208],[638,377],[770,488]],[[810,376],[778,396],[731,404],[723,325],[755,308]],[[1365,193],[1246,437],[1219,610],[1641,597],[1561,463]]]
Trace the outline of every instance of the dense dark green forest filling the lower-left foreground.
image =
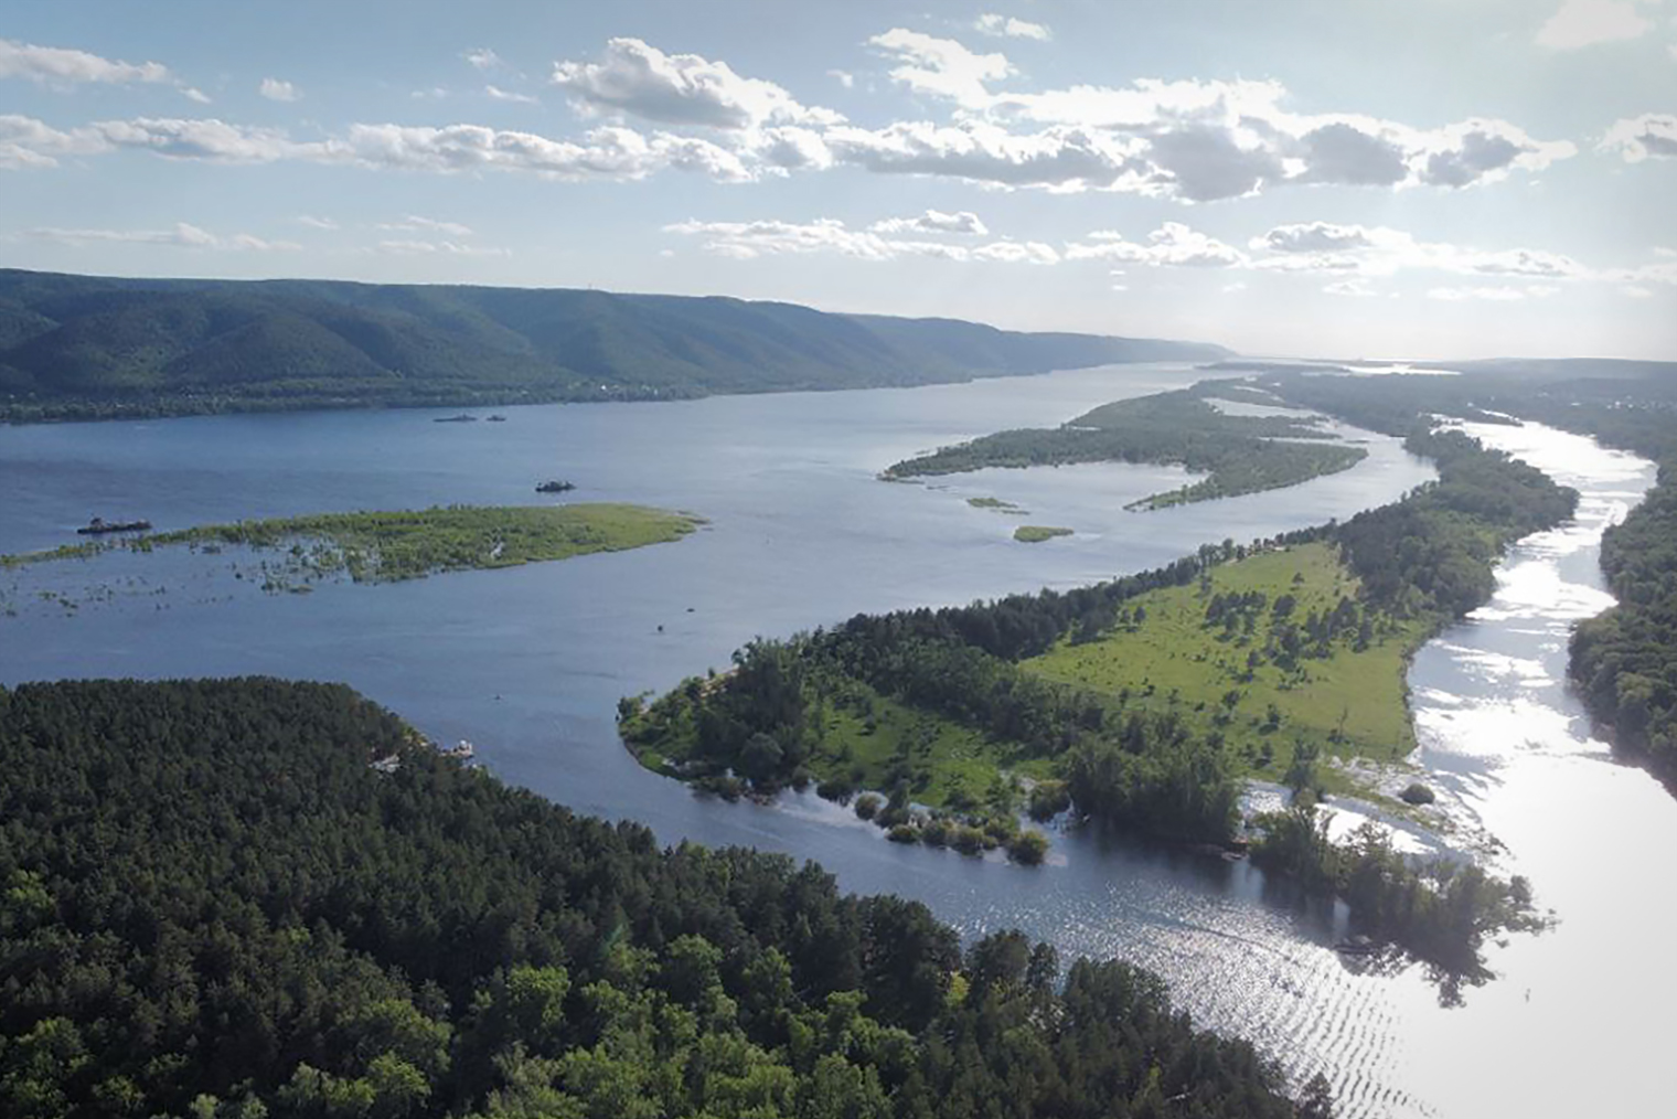
[[[379,765],[372,765],[377,762]],[[1325,1119],[1155,976],[659,849],[347,688],[0,688],[8,1119]]]

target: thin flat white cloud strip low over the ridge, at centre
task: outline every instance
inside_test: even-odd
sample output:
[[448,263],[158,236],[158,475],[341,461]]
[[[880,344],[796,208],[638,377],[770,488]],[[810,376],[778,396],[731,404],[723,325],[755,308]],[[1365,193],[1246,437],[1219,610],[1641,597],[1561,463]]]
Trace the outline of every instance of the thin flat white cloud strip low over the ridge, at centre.
[[678,221],[666,233],[701,237],[703,248],[718,257],[753,260],[758,257],[833,253],[857,260],[901,260],[936,257],[954,262],[1057,263],[1060,253],[1041,242],[993,242],[979,247],[948,242],[904,240],[872,230],[852,230],[837,218],[815,221]]

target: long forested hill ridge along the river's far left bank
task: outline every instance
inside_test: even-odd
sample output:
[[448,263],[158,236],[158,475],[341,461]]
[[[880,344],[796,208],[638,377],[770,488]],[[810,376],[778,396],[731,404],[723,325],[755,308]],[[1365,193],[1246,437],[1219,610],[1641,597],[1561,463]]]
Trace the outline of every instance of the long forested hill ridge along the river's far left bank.
[[721,297],[0,268],[0,419],[934,384],[1221,346]]

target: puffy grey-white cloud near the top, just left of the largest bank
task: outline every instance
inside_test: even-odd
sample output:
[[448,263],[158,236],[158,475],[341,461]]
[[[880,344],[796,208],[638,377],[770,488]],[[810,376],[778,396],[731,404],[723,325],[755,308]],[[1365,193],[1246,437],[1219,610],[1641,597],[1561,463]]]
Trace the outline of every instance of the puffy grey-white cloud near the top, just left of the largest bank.
[[639,39],[612,39],[604,62],[555,62],[558,86],[587,112],[627,112],[662,124],[750,129],[837,124],[832,109],[807,107],[773,82],[740,77],[726,62],[664,54]]

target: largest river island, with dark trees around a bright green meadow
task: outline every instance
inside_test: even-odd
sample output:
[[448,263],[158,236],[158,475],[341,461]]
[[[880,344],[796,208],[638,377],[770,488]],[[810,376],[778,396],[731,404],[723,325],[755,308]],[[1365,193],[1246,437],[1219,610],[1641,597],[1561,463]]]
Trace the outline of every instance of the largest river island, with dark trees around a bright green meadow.
[[[1023,862],[1043,857],[1046,837],[1020,814],[1068,807],[1239,847],[1249,777],[1291,787],[1295,812],[1318,827],[1316,800],[1370,792],[1323,760],[1412,748],[1409,654],[1491,596],[1508,544],[1576,502],[1459,431],[1422,424],[1405,446],[1439,480],[1345,523],[1204,545],[1068,592],[753,641],[728,673],[626,698],[624,740],[644,765],[723,795],[813,782],[855,797],[894,841],[1006,847]],[[1536,921],[1518,881],[1444,862],[1399,876],[1402,859],[1373,842],[1333,849],[1306,874],[1280,825],[1254,824],[1254,857],[1306,889],[1343,896],[1355,881],[1362,931],[1451,975],[1482,978],[1482,938]],[[1464,909],[1472,919],[1457,919]]]

